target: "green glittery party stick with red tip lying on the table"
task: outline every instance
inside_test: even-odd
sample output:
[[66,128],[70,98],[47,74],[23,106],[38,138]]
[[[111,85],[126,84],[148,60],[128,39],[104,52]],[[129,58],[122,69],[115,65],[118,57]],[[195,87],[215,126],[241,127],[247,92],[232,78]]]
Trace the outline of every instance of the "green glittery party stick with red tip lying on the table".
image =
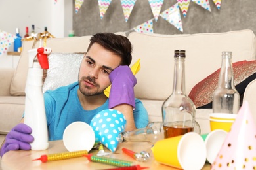
[[132,161],[119,160],[116,158],[106,158],[104,156],[95,156],[93,154],[84,155],[89,161],[112,165],[114,167],[131,167],[134,165]]

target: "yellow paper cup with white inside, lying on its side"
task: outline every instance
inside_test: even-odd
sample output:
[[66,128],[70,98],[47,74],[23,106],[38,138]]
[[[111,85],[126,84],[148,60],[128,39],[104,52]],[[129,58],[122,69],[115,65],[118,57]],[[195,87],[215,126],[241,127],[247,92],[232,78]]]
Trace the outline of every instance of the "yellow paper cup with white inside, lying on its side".
[[158,163],[179,169],[202,169],[206,161],[205,143],[195,132],[157,141],[152,152]]

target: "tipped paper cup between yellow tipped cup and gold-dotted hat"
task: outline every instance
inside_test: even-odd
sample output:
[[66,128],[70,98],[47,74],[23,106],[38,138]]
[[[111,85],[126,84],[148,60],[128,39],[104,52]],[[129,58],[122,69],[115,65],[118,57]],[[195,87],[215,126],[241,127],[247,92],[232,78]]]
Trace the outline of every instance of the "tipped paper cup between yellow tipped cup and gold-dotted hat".
[[219,150],[221,149],[221,146],[224,143],[224,140],[226,139],[227,134],[228,133],[226,131],[217,129],[211,131],[210,133],[201,135],[203,141],[205,142],[207,151],[206,158],[209,163],[212,164],[214,162]]

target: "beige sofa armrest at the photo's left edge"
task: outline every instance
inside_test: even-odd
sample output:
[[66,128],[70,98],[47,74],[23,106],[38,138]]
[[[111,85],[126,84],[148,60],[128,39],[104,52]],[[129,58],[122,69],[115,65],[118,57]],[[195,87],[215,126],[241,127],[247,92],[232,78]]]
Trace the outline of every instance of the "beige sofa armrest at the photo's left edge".
[[0,68],[0,96],[9,96],[12,77],[14,76],[15,69]]

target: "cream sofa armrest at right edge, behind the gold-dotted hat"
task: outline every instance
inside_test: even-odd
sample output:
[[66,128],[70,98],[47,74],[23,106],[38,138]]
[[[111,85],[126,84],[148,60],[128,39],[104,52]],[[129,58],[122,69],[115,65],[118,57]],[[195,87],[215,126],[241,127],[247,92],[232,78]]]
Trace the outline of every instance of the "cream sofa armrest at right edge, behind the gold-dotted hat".
[[248,101],[249,109],[251,114],[253,114],[254,122],[256,123],[256,79],[251,81],[245,88],[243,101]]

